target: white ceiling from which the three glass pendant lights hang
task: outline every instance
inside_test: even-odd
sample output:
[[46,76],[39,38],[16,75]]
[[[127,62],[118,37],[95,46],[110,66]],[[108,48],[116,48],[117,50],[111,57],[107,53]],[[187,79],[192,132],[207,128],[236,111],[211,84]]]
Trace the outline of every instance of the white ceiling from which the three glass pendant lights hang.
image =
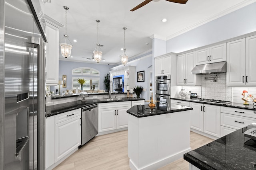
[[[152,35],[168,40],[208,21],[233,12],[256,0],[188,0],[177,4],[160,0],[150,2],[131,12],[144,0],[51,0],[44,4],[44,13],[65,25],[67,10],[67,35],[72,41],[72,58],[60,60],[96,63],[92,58],[97,43],[97,22],[99,23],[98,43],[104,45],[102,58],[98,64],[121,64],[121,48],[125,47],[129,59],[152,49]],[[166,18],[166,22],[161,20]],[[60,40],[65,27],[60,28]],[[73,42],[76,39],[77,42]],[[85,58],[83,58],[85,57]]]

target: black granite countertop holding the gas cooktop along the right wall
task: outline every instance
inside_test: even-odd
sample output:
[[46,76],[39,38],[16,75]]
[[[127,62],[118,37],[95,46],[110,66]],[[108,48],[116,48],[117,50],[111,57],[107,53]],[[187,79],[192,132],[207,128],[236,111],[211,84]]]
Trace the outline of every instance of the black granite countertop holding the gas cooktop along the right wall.
[[238,108],[238,109],[248,109],[248,110],[256,110],[256,106],[253,104],[249,105],[244,105],[242,103],[230,103],[230,104],[215,104],[215,103],[209,103],[209,102],[202,102],[198,100],[190,100],[190,99],[184,99],[184,98],[171,98],[174,100],[182,100],[182,101],[188,101],[188,102],[195,102],[195,103],[202,103],[202,104],[211,104],[211,105],[216,105],[216,106],[225,106],[225,107],[233,107],[233,108]]

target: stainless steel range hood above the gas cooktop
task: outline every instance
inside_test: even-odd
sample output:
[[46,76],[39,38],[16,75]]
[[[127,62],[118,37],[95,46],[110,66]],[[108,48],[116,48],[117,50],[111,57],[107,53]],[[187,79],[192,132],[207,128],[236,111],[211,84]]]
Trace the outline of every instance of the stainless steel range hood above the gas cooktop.
[[191,71],[191,74],[216,74],[226,72],[226,61],[210,64],[197,65]]

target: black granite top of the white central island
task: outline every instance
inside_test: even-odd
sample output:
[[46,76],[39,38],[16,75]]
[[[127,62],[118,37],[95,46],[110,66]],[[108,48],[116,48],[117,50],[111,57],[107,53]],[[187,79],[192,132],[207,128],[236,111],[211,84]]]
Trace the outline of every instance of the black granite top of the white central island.
[[147,117],[192,109],[192,107],[180,106],[177,104],[167,104],[167,106],[162,107],[156,106],[153,109],[151,109],[148,105],[137,105],[132,106],[130,109],[128,109],[127,113],[134,115],[136,117]]

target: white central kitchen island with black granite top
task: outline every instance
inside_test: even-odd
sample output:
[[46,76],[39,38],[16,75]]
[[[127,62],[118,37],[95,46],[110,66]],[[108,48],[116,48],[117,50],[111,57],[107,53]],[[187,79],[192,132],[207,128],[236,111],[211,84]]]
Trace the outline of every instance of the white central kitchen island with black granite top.
[[190,110],[191,107],[176,104],[128,109],[130,168],[157,169],[190,151]]

